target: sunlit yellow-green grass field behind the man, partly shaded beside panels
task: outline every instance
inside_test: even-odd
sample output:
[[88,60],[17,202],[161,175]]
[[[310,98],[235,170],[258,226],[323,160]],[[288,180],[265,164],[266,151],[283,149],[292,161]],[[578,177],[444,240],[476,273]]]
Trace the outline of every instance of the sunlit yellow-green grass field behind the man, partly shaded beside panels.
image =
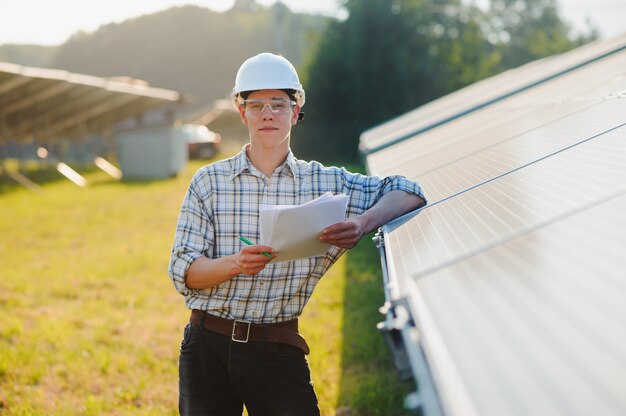
[[[167,264],[190,163],[176,178],[78,188],[32,172],[0,179],[0,414],[175,415],[188,319]],[[375,324],[383,302],[369,238],[322,279],[302,317],[324,415],[404,415]]]

